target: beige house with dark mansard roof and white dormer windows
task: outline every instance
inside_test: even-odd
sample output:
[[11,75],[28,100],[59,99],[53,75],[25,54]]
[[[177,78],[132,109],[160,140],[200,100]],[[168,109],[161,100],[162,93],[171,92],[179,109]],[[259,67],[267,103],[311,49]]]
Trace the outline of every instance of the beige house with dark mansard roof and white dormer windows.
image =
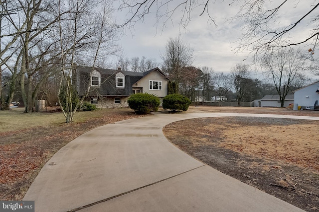
[[167,82],[167,76],[159,68],[146,72],[92,67],[72,70],[72,83],[79,96],[89,89],[85,101],[100,108],[127,107],[132,93],[150,93],[162,99],[167,95]]

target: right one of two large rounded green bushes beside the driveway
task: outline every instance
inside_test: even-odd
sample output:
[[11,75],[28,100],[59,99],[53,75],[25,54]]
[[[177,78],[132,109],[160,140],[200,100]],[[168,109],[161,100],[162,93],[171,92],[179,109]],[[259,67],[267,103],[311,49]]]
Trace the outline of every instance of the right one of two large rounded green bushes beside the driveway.
[[186,111],[190,104],[190,99],[180,94],[169,94],[163,98],[163,108],[172,111]]

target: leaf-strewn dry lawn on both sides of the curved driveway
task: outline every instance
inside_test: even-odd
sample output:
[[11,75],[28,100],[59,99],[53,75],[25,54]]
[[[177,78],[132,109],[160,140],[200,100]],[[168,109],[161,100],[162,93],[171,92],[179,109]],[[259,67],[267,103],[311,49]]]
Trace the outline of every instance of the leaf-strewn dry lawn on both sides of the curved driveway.
[[[43,164],[76,137],[105,124],[140,117],[131,109],[97,110],[77,112],[74,122],[65,124],[61,112],[22,112],[23,109],[0,111],[1,200],[21,200]],[[319,116],[319,111],[281,108],[192,106],[187,111],[190,112]],[[241,176],[240,180],[243,182],[275,196],[282,193],[297,197],[298,195],[287,191],[298,191],[301,196],[308,198],[307,203],[298,199],[299,196],[285,201],[308,211],[319,209],[319,190],[312,190],[315,186],[319,188],[318,123],[298,121],[278,124],[278,121],[272,120],[271,123],[261,123],[262,127],[257,127],[256,122],[252,124],[251,120],[231,120],[221,118],[215,122],[197,119],[191,123],[172,123],[165,127],[165,133],[182,150],[230,176]],[[210,159],[206,160],[207,158]],[[303,180],[298,181],[294,173]],[[256,180],[260,177],[270,181]],[[267,184],[268,187],[270,185],[271,189],[259,187],[260,184]],[[303,190],[299,189],[299,185]]]

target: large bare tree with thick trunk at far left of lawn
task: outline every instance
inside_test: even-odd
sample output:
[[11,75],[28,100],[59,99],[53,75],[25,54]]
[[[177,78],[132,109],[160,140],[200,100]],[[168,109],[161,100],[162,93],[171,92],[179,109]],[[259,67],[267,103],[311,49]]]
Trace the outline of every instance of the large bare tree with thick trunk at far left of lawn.
[[[55,5],[52,0],[1,1],[2,10],[10,11],[1,16],[1,24],[2,18],[6,21],[5,27],[1,27],[1,36],[4,36],[2,29],[7,33],[1,40],[1,45],[3,41],[5,44],[1,49],[1,66],[5,65],[11,71],[12,80],[18,75],[25,112],[33,111],[39,85],[34,84],[33,77],[41,69],[40,66],[46,66],[50,60],[48,55],[53,46],[46,40],[47,31],[58,19]],[[11,84],[14,83],[12,81]]]

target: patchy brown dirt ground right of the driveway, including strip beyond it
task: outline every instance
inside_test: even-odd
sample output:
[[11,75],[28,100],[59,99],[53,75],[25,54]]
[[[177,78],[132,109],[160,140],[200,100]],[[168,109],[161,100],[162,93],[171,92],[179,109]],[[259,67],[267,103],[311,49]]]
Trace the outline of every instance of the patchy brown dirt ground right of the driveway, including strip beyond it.
[[[187,112],[319,116],[281,108],[190,107]],[[164,127],[177,147],[219,171],[305,211],[319,211],[319,121],[220,117]]]

